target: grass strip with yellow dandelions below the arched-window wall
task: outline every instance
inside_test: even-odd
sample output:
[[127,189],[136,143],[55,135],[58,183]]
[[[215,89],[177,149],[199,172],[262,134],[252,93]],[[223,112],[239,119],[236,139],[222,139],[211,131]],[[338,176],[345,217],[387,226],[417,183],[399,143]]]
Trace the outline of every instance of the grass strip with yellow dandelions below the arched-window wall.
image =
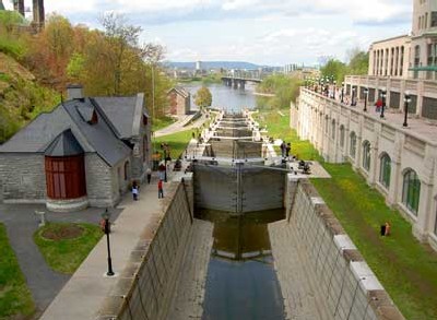
[[[316,151],[308,141],[299,141],[290,129],[288,115],[268,114],[264,119],[271,135],[292,142],[294,154],[320,158],[314,156]],[[383,197],[350,164],[322,166],[332,178],[311,179],[312,183],[398,308],[408,319],[437,319],[437,253],[413,237],[411,224],[390,210]],[[379,228],[386,221],[391,224],[391,236],[380,237]]]

